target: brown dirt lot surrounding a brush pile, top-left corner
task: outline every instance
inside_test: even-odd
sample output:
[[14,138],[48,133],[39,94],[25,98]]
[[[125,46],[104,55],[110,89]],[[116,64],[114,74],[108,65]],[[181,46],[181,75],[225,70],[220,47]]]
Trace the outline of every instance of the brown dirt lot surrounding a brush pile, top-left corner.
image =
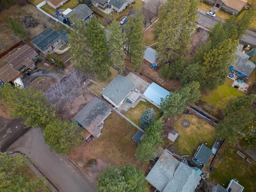
[[35,36],[46,26],[49,26],[53,20],[49,19],[46,15],[36,9],[30,3],[27,3],[25,6],[19,6],[17,4],[12,5],[9,9],[1,10],[1,17],[0,17],[0,52],[4,52],[20,40],[16,38],[9,27],[8,16],[12,17],[14,20],[17,20],[23,23],[22,18],[24,16],[32,16],[33,18],[37,19],[40,24],[35,28],[28,28],[28,32],[30,37]]

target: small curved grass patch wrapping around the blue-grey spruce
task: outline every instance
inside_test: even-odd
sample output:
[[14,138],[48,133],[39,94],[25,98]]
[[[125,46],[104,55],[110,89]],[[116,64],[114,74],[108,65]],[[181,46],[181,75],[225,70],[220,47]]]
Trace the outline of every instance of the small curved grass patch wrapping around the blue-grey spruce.
[[156,118],[159,119],[162,117],[162,113],[160,112],[159,108],[151,104],[150,102],[143,102],[140,101],[136,107],[130,108],[124,116],[126,116],[128,119],[130,119],[134,124],[140,127],[140,118],[142,116],[142,113],[148,109],[148,108],[153,108],[154,111],[156,112]]

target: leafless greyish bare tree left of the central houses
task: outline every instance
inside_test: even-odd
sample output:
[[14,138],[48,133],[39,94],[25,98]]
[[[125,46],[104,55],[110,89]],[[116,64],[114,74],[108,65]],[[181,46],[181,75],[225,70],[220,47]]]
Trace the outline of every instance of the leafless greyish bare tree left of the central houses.
[[74,69],[58,84],[45,93],[50,104],[53,104],[59,110],[70,107],[76,97],[82,92],[82,83],[86,80],[86,76],[80,70]]

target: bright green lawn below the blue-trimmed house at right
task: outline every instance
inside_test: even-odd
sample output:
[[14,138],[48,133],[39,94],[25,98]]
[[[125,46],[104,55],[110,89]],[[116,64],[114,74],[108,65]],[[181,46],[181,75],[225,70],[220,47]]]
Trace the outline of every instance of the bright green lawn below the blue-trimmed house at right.
[[224,85],[219,86],[218,89],[202,92],[200,97],[199,105],[204,110],[212,113],[214,116],[221,118],[221,110],[226,106],[228,100],[236,98],[238,95],[244,95],[245,93],[231,87],[234,81],[227,78]]

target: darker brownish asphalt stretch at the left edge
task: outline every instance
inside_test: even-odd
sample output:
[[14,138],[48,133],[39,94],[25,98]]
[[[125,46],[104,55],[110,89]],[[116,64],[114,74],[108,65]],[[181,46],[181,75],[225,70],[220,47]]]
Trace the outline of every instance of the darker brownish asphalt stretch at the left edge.
[[29,128],[24,128],[22,118],[6,119],[0,117],[0,150],[5,152],[18,138],[25,134]]

